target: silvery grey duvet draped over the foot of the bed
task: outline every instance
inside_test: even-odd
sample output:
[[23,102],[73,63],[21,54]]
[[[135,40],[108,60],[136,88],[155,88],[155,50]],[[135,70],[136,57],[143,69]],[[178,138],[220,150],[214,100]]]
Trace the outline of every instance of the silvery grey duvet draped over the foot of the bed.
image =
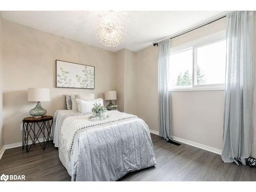
[[150,132],[139,118],[79,130],[70,158],[72,181],[116,181],[155,164]]

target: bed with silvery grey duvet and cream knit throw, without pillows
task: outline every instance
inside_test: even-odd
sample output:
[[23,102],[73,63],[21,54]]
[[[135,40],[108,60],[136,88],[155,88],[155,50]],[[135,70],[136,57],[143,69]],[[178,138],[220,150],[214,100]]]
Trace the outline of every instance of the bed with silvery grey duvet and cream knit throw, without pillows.
[[77,110],[55,112],[53,142],[72,181],[116,181],[156,165],[146,123],[118,111],[107,115],[90,121],[89,114]]

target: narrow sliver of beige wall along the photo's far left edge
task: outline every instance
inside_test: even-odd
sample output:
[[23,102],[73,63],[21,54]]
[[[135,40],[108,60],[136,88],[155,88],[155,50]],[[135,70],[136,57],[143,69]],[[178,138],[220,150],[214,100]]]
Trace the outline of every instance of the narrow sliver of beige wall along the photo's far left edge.
[[4,146],[4,128],[3,128],[3,57],[2,57],[2,44],[3,44],[3,19],[0,14],[0,151]]

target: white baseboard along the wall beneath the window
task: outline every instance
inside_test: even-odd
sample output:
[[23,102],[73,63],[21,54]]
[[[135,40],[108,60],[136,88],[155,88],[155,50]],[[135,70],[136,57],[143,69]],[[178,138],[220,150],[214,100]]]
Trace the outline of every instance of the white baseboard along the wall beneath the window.
[[[158,131],[150,130],[150,132],[153,133],[153,134],[159,135]],[[200,143],[197,143],[197,142],[194,142],[194,141],[189,141],[189,140],[182,139],[182,138],[175,137],[175,136],[173,136],[173,139],[175,141],[185,143],[185,144],[188,144],[188,145],[191,145],[191,146],[195,146],[195,147],[201,148],[202,150],[221,155],[221,150],[219,150],[218,148],[214,148],[214,147],[211,147],[211,146],[207,146],[207,145],[204,145],[204,144],[200,144]]]

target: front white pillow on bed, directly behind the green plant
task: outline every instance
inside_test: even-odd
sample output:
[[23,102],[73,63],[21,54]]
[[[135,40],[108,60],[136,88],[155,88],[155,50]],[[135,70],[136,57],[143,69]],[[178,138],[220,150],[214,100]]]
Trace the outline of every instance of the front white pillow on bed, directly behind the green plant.
[[92,100],[82,100],[82,99],[76,99],[77,105],[78,105],[78,111],[81,113],[92,113],[93,104],[98,103],[103,106],[103,99],[92,99]]

